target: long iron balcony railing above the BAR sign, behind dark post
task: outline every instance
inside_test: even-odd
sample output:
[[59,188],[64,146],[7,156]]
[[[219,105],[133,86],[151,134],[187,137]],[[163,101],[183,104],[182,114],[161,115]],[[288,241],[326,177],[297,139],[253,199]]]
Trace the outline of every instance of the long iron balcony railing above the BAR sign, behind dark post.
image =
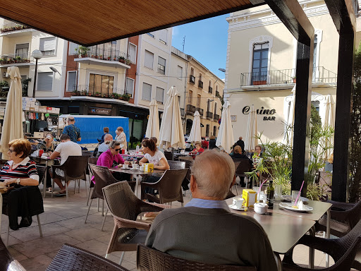
[[[295,74],[295,68],[260,73],[240,73],[240,86],[293,84],[296,83]],[[323,66],[314,67],[312,83],[336,84],[337,73],[329,71]]]

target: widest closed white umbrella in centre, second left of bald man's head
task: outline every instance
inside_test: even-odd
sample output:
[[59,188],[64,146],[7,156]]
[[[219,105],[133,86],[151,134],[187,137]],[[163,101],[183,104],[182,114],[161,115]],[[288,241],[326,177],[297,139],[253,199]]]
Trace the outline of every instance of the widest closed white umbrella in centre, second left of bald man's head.
[[159,132],[159,145],[168,147],[185,148],[181,109],[179,108],[179,92],[173,86],[166,93],[168,99],[164,106],[163,118],[161,119],[161,130]]

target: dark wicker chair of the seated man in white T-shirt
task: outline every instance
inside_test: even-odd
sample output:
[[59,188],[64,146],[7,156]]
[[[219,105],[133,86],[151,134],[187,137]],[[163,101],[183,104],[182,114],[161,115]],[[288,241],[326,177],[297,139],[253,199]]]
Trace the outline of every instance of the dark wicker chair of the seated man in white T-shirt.
[[[79,188],[80,189],[80,180],[87,181],[87,159],[88,156],[69,156],[68,159],[66,159],[66,162],[62,164],[61,166],[52,166],[53,169],[53,180],[51,181],[51,186],[54,191],[54,178],[61,179],[62,181],[65,181],[65,187],[66,187],[66,201],[68,201],[68,181],[79,180]],[[59,176],[56,174],[56,169],[61,169],[64,171],[64,176]],[[80,192],[80,191],[78,191]],[[75,193],[75,188],[74,188]],[[53,192],[51,191],[51,197],[53,196]]]

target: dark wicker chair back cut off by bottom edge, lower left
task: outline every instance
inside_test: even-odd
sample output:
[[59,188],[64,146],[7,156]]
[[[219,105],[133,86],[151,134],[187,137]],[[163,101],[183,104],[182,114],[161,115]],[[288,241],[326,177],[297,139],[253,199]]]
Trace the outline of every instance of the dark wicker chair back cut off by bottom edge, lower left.
[[61,270],[128,271],[111,260],[68,243],[63,244],[47,267],[47,271]]

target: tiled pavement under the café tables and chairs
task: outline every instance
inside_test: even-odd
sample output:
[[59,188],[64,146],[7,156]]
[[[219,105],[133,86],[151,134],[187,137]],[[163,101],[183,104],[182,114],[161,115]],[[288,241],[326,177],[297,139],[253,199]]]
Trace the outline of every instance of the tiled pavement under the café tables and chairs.
[[[36,217],[33,217],[34,221],[31,227],[10,231],[8,250],[26,270],[46,270],[63,243],[70,243],[105,256],[114,227],[113,219],[108,215],[104,231],[101,231],[102,212],[97,211],[97,200],[93,200],[90,215],[87,218],[87,224],[85,224],[85,215],[87,214],[85,181],[81,182],[80,193],[73,194],[72,188],[69,191],[68,202],[66,202],[65,197],[51,198],[50,193],[47,193],[47,198],[44,199],[44,213],[39,216],[42,224],[43,238],[39,237]],[[233,193],[235,193],[234,189]],[[239,186],[238,193],[241,193]],[[187,193],[185,203],[188,203],[189,200],[190,194]],[[173,203],[172,205],[172,207],[180,206],[180,203]],[[101,210],[102,205],[100,204],[99,207]],[[3,215],[1,220],[1,238],[3,241],[6,240],[7,229],[8,217]],[[295,249],[295,261],[307,264],[307,248],[297,246]],[[137,270],[135,254],[135,251],[126,252],[122,263],[123,267],[126,267],[128,270]],[[114,252],[111,253],[109,259],[118,263],[120,256],[120,252]],[[325,265],[325,256],[319,251],[316,251],[315,265]]]

